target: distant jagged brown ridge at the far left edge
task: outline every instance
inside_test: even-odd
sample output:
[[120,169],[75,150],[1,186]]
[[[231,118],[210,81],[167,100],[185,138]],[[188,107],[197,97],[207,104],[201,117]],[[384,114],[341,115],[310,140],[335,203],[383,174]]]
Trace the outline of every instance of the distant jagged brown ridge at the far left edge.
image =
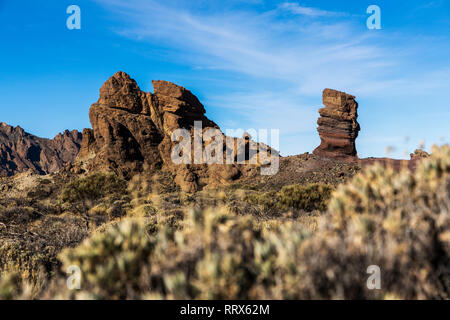
[[64,131],[54,139],[39,138],[21,127],[0,123],[0,176],[31,170],[48,174],[72,162],[81,146],[78,131]]

